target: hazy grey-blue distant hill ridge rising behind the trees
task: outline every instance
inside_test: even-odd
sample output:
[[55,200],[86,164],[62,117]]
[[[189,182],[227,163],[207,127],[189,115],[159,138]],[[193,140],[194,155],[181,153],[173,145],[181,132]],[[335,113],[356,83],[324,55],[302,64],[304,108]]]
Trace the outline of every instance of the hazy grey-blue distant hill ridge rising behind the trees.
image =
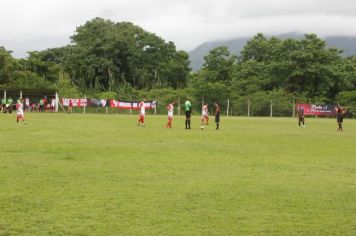
[[[270,36],[268,36],[270,37]],[[276,36],[280,39],[294,38],[301,39],[304,37],[304,34],[298,33],[289,33],[289,34],[280,34]],[[203,63],[204,56],[206,56],[212,49],[227,46],[232,54],[239,54],[243,47],[246,45],[252,37],[241,37],[233,38],[229,40],[217,40],[209,41],[201,44],[194,50],[188,52],[190,58],[190,66],[193,71],[198,71]],[[329,36],[323,38],[329,47],[336,47],[344,51],[345,56],[356,55],[356,37],[352,36]]]

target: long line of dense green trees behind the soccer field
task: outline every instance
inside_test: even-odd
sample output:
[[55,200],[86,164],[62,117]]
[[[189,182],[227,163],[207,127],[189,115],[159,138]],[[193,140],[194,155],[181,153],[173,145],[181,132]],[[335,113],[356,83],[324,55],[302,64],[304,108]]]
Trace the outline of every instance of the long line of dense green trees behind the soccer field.
[[211,50],[193,73],[188,54],[173,42],[130,22],[94,18],[77,27],[64,47],[29,52],[23,59],[0,47],[0,86],[163,102],[189,95],[196,104],[203,98],[223,108],[227,99],[236,107],[249,100],[256,115],[271,99],[286,110],[293,100],[341,103],[356,114],[356,57],[341,53],[315,34],[284,40],[257,34],[240,55],[227,47]]

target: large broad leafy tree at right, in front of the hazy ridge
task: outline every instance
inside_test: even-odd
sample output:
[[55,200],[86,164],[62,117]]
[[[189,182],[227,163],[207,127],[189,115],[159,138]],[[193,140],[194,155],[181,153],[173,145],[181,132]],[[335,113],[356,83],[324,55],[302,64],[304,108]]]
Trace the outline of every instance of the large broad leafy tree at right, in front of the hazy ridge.
[[314,34],[301,40],[258,34],[241,52],[234,86],[242,95],[243,91],[281,88],[327,102],[352,85],[352,71],[341,51],[327,48]]

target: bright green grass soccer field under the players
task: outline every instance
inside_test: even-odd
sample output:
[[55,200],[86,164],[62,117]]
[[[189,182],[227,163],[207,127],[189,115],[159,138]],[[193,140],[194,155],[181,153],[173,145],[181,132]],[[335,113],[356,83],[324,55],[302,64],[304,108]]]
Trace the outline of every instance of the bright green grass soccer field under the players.
[[356,235],[356,120],[0,114],[0,235]]

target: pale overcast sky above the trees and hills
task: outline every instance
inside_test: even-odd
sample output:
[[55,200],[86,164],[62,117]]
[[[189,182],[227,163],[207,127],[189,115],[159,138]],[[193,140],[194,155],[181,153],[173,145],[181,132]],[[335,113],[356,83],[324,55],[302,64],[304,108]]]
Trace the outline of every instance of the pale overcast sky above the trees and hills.
[[216,39],[313,32],[356,36],[355,0],[1,0],[0,46],[26,51],[65,46],[94,17],[130,21],[192,50]]

